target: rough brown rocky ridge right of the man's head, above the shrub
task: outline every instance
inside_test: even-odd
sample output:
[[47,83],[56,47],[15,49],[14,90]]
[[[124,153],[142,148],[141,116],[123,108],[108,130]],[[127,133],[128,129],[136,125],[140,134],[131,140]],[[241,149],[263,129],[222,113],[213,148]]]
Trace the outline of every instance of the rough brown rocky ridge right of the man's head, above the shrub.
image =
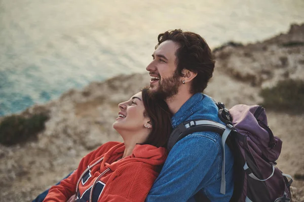
[[304,79],[303,53],[304,24],[291,25],[287,34],[263,42],[227,44],[214,51],[221,72],[262,88],[287,78]]

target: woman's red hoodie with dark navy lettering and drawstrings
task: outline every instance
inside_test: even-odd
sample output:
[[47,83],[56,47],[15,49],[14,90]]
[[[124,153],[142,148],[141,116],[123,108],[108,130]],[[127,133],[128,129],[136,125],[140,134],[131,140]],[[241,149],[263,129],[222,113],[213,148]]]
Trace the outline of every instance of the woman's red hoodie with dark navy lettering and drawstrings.
[[66,201],[76,192],[75,201],[82,202],[89,201],[90,195],[94,202],[144,201],[165,163],[167,151],[164,147],[137,144],[131,156],[121,159],[124,150],[125,144],[120,142],[101,145],[85,156],[68,178],[52,186],[44,201]]

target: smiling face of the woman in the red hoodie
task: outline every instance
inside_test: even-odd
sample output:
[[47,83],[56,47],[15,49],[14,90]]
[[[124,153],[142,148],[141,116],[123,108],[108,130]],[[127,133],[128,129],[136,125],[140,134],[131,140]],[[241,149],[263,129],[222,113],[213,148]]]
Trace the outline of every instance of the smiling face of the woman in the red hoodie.
[[[118,105],[120,112],[113,128],[116,130],[138,131],[144,128],[149,121],[143,116],[144,105],[141,92],[133,95],[128,101]],[[149,125],[149,124],[148,124]],[[150,126],[150,125],[149,125]]]

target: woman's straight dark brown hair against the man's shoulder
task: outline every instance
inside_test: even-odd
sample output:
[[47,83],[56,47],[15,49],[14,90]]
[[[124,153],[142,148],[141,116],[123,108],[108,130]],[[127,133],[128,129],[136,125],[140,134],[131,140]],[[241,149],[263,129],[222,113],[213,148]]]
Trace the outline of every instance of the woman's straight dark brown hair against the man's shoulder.
[[167,103],[149,93],[147,87],[141,90],[144,105],[144,116],[150,119],[151,132],[142,144],[151,144],[157,147],[167,146],[168,138],[172,132],[171,116]]

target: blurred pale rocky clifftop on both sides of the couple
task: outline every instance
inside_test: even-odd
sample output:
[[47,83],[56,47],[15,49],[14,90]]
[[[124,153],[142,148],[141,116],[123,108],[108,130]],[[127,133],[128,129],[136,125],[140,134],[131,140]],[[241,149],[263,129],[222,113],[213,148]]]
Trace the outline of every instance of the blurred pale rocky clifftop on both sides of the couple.
[[[215,48],[214,55],[216,68],[205,93],[228,108],[261,103],[261,89],[288,78],[304,80],[304,24],[254,44],[227,43]],[[50,119],[36,140],[0,145],[0,200],[30,201],[77,168],[92,149],[121,141],[112,129],[117,105],[148,82],[147,73],[119,75],[82,90],[71,89],[57,100],[21,113],[26,117],[46,112]],[[304,175],[304,115],[268,110],[268,116],[274,134],[283,140],[278,167],[292,176]],[[304,201],[303,187],[304,181],[294,180],[293,201]]]

